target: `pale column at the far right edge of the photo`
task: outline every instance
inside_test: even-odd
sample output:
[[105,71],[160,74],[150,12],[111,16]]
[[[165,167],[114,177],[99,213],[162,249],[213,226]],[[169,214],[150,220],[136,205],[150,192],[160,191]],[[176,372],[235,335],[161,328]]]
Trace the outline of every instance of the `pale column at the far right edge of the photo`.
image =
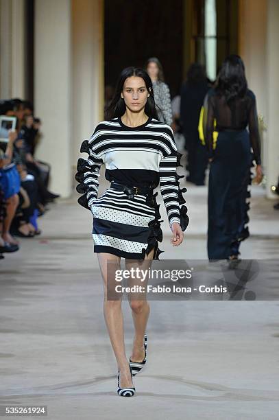
[[270,185],[277,184],[279,175],[279,1],[267,2],[267,60],[265,89],[267,89],[267,196],[275,198]]

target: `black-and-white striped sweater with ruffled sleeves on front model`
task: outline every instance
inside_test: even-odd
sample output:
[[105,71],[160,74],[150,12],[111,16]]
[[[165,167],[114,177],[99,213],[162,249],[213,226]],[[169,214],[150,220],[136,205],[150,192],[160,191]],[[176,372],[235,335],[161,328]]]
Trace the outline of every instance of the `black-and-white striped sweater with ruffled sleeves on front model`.
[[170,226],[180,223],[180,204],[185,200],[179,186],[182,176],[176,172],[179,153],[170,126],[149,117],[145,124],[134,128],[116,117],[101,121],[85,143],[81,151],[87,151],[89,156],[82,165],[82,182],[89,208],[97,199],[99,172],[104,163],[105,177],[110,182],[133,187],[160,185]]

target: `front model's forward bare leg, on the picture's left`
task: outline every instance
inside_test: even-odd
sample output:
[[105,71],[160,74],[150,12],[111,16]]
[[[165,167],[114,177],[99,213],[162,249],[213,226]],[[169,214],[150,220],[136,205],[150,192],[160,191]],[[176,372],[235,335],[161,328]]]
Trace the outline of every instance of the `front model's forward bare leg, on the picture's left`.
[[125,354],[123,314],[121,310],[122,296],[121,299],[114,301],[108,299],[108,297],[111,297],[108,296],[108,288],[110,287],[110,283],[113,282],[110,282],[110,271],[108,272],[107,268],[110,266],[113,267],[112,271],[119,270],[120,257],[108,253],[97,253],[97,257],[101,269],[101,275],[104,280],[104,316],[106,326],[108,328],[112,349],[117,359],[118,370],[120,371],[119,386],[120,388],[130,388],[133,384],[129,362]]

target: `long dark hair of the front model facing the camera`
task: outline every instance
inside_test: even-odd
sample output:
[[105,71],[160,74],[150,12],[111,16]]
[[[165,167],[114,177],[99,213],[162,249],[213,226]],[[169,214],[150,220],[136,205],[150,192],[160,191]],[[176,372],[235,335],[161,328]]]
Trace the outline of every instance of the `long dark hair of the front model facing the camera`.
[[139,67],[126,67],[121,71],[112,100],[105,109],[106,119],[121,117],[123,114],[125,114],[126,105],[124,100],[121,98],[121,92],[123,91],[125,80],[132,76],[143,78],[145,81],[145,86],[147,87],[147,91],[150,93],[145,104],[145,114],[148,115],[148,117],[158,119],[151,78],[149,77],[147,71],[140,69]]

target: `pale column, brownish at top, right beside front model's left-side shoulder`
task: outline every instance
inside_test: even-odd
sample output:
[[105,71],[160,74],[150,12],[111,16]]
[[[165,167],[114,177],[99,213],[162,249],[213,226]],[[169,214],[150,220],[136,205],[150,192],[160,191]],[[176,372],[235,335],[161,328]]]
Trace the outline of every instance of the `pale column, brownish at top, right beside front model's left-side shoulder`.
[[72,0],[73,168],[104,119],[104,0]]

